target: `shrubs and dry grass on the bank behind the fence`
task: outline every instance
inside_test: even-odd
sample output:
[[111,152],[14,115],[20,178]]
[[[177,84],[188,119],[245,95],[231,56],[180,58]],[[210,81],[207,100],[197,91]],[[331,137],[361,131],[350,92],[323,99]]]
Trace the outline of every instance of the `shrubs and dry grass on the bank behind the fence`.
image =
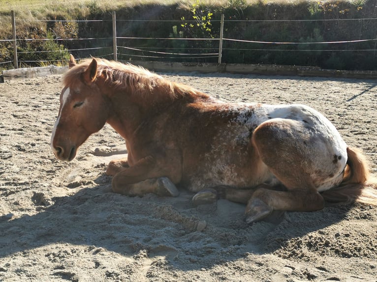
[[[112,9],[92,1],[54,11],[15,14],[18,66],[68,58],[113,58]],[[118,7],[119,60],[218,62],[220,17],[225,15],[222,62],[375,70],[376,0]],[[9,12],[1,15],[0,68],[14,67]]]

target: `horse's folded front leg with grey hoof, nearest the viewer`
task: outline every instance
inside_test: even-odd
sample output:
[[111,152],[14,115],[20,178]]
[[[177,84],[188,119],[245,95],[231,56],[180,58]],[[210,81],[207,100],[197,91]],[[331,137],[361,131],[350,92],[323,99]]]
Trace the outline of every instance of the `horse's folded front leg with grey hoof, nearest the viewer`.
[[127,196],[142,197],[148,193],[172,197],[179,195],[179,191],[169,178],[158,176],[156,162],[151,156],[118,172],[113,178],[112,189],[115,193]]

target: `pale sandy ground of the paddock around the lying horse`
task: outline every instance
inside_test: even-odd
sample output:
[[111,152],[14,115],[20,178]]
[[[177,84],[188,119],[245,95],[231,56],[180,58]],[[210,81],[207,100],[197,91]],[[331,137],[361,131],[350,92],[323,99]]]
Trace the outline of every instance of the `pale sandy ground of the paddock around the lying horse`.
[[[305,103],[377,170],[377,82],[164,74],[225,101]],[[244,205],[126,197],[104,174],[125,153],[109,126],[71,163],[50,135],[61,76],[0,84],[0,281],[377,281],[377,208],[288,212],[247,225]]]

